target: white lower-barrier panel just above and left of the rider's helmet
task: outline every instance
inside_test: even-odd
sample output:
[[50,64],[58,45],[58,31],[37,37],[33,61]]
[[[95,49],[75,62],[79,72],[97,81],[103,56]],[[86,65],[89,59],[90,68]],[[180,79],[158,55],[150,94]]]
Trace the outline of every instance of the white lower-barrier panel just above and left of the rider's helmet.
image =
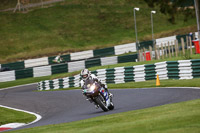
[[85,61],[76,61],[68,63],[68,72],[74,72],[85,68]]

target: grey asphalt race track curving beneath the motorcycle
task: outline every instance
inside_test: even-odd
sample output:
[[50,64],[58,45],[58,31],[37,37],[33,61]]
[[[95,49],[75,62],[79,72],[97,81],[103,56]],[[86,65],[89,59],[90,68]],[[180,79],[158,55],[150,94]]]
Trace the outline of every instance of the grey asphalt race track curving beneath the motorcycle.
[[103,112],[85,100],[81,90],[36,91],[36,84],[0,91],[0,105],[37,113],[42,119],[30,128],[144,109],[200,98],[200,89],[151,88],[113,89],[115,109]]

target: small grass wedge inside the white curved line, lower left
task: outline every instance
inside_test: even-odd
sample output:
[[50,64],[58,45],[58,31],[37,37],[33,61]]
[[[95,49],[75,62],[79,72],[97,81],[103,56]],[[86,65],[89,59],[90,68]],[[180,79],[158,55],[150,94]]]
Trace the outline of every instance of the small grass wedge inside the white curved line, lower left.
[[0,107],[0,125],[15,122],[30,123],[35,119],[36,117],[34,115]]

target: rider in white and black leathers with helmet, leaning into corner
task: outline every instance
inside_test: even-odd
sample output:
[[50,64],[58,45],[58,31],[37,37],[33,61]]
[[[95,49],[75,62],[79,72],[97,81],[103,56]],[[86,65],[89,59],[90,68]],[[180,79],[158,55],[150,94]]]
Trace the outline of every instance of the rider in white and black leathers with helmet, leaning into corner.
[[[81,77],[82,77],[82,80],[81,80],[81,88],[84,89],[84,84],[85,84],[85,81],[87,79],[91,79],[91,80],[94,80],[95,82],[98,82],[109,94],[109,97],[112,99],[113,97],[113,94],[110,93],[108,91],[108,88],[107,88],[107,85],[101,83],[101,81],[94,75],[94,74],[91,74],[91,72],[88,70],[88,69],[83,69],[81,71]],[[84,95],[84,94],[83,94]],[[85,95],[84,95],[85,96]],[[87,97],[87,96],[86,96]],[[90,100],[88,97],[87,97],[87,100]],[[90,101],[91,102],[91,101]],[[99,108],[99,106],[97,106],[95,104],[96,108]]]

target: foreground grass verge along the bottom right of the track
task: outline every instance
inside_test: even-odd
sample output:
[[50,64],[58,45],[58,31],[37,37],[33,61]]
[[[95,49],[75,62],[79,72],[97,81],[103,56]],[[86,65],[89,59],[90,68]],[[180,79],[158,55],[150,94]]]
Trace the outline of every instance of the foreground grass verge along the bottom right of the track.
[[200,99],[13,133],[199,133],[199,104]]

